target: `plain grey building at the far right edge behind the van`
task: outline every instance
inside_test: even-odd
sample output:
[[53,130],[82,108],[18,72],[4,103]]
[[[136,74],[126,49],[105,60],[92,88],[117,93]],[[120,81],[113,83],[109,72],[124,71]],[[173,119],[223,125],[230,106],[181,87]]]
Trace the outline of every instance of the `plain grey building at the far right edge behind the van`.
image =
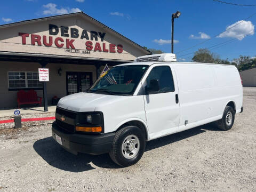
[[247,69],[239,72],[243,86],[256,86],[256,68]]

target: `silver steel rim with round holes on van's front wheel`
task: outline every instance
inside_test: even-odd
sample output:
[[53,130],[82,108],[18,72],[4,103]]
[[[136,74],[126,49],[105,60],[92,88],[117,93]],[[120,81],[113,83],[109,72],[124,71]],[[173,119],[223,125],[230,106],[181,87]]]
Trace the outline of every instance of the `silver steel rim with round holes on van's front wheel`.
[[125,158],[135,157],[140,150],[140,141],[136,135],[127,136],[122,144],[122,154]]

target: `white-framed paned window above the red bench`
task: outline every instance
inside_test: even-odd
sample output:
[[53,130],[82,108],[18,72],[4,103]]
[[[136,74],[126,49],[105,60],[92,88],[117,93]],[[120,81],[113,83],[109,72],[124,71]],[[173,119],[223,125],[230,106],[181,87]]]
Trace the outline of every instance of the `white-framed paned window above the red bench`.
[[8,72],[9,89],[42,88],[38,72]]

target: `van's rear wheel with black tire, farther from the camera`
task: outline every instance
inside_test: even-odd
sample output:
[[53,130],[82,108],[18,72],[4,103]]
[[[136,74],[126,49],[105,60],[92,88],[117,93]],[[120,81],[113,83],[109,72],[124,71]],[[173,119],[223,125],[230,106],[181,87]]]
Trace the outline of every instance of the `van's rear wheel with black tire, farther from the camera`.
[[230,106],[226,106],[222,119],[217,121],[217,125],[219,129],[228,131],[233,126],[234,121],[235,121],[235,110]]

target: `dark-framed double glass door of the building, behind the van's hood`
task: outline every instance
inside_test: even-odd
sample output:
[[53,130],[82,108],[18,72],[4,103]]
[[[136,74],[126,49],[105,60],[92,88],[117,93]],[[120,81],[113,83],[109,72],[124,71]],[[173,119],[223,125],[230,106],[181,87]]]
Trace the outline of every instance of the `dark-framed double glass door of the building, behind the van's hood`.
[[67,72],[67,95],[85,91],[92,86],[91,72]]

